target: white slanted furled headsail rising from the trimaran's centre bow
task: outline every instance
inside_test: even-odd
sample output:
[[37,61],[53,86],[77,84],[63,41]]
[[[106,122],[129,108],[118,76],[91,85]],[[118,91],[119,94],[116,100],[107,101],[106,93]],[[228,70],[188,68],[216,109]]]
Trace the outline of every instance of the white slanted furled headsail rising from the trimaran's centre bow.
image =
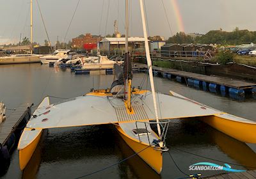
[[148,64],[148,74],[149,74],[149,79],[150,79],[150,85],[151,85],[151,91],[152,91],[155,114],[156,114],[156,121],[157,121],[157,131],[158,131],[158,134],[160,137],[161,136],[161,128],[159,125],[159,118],[158,118],[158,114],[157,114],[156,91],[155,91],[154,80],[153,80],[152,61],[150,58],[149,47],[148,47],[148,35],[147,35],[147,28],[146,28],[146,22],[145,22],[145,12],[144,12],[143,0],[140,0],[140,11],[141,11],[142,26],[143,26],[143,34],[144,34],[144,38],[145,38],[145,51],[146,51],[146,58],[147,58],[147,64]]

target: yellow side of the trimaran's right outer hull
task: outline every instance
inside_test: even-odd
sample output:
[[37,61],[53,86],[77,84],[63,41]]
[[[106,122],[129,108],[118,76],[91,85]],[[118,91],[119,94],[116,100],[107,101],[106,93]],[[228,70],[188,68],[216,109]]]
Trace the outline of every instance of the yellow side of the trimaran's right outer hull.
[[201,117],[200,120],[239,141],[244,143],[256,143],[256,125],[253,123],[228,120],[217,115],[204,116]]

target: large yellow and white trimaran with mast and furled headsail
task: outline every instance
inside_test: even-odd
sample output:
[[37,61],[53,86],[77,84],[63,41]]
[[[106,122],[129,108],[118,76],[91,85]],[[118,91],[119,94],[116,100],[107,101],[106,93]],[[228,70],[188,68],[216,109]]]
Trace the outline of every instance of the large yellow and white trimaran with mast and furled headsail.
[[[239,141],[256,143],[255,121],[212,109],[173,91],[170,91],[170,95],[155,92],[143,0],[140,0],[141,19],[152,91],[132,88],[132,67],[127,40],[128,0],[125,4],[125,64],[123,68],[115,66],[118,79],[113,82],[110,89],[93,90],[82,97],[56,104],[51,104],[49,97],[45,97],[20,137],[20,169],[27,166],[43,130],[47,128],[113,124],[125,143],[159,174],[163,166],[163,152],[168,150],[164,143],[166,130],[172,119],[196,117]],[[159,110],[160,115],[157,113]],[[150,124],[156,125],[157,132],[150,128]]]

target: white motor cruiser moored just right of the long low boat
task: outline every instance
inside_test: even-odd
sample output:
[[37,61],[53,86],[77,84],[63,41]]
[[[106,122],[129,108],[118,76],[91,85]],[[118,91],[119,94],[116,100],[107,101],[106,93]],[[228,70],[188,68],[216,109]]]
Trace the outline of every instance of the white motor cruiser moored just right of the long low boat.
[[55,63],[58,59],[68,58],[69,50],[57,50],[54,51],[51,55],[40,57],[42,64]]

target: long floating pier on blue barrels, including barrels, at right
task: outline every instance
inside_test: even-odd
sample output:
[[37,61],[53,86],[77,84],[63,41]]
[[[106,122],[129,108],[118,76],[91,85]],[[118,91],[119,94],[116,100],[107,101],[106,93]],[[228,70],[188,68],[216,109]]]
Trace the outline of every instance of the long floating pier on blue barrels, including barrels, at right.
[[[134,72],[147,72],[147,65],[134,63],[132,66]],[[161,76],[168,79],[175,79],[178,82],[186,82],[190,87],[203,89],[212,93],[220,93],[223,96],[240,100],[245,95],[256,95],[256,83],[240,81],[227,77],[209,76],[184,72],[180,70],[161,68],[153,66],[155,76]]]

